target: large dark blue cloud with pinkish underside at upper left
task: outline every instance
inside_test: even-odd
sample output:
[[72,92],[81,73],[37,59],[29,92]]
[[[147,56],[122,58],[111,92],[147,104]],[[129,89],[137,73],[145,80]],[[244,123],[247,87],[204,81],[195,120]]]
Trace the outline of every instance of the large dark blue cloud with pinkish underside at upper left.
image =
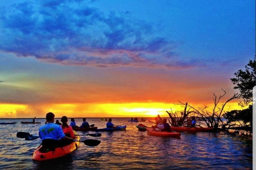
[[67,65],[195,66],[178,59],[177,43],[158,35],[154,25],[90,3],[27,1],[1,8],[0,50]]

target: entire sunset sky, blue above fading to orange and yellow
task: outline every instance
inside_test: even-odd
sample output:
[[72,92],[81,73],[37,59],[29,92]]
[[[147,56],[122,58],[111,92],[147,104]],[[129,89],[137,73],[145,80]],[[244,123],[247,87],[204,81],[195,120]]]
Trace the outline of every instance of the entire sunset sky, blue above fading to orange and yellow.
[[[254,0],[0,0],[0,118],[213,106],[255,55]],[[227,110],[239,109],[238,100]]]

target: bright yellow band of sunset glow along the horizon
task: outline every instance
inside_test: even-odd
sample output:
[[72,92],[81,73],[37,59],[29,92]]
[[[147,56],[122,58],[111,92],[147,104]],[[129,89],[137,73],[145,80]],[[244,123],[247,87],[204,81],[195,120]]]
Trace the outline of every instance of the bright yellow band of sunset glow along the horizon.
[[[198,104],[191,104],[198,109]],[[213,104],[207,108],[212,111]],[[225,111],[240,110],[237,103],[228,103]],[[0,104],[0,118],[45,117],[53,112],[55,117],[168,117],[168,112],[184,111],[184,106],[170,103],[63,103],[28,106],[24,104]]]

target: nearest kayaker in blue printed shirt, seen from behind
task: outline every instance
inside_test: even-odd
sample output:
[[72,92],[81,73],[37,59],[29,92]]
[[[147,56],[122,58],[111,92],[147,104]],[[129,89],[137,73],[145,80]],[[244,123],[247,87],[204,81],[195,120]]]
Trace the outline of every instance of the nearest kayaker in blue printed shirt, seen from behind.
[[72,138],[68,138],[62,128],[54,123],[55,115],[52,112],[46,114],[47,123],[39,128],[39,138],[42,140],[42,148],[54,149],[65,143],[72,142]]

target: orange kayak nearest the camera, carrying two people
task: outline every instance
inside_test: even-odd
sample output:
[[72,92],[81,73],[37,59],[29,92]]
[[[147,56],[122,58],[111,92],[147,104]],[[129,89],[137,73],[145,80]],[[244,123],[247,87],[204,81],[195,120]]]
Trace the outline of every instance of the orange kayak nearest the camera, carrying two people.
[[[74,134],[77,135],[77,132],[74,131]],[[76,140],[78,140],[78,141],[74,141],[67,146],[55,148],[55,151],[41,152],[40,149],[42,148],[42,145],[40,145],[33,152],[32,159],[37,160],[37,161],[42,161],[42,160],[49,160],[49,159],[63,157],[78,148],[79,143],[80,143],[79,142],[80,137],[79,136],[76,136],[76,137],[77,137]]]

